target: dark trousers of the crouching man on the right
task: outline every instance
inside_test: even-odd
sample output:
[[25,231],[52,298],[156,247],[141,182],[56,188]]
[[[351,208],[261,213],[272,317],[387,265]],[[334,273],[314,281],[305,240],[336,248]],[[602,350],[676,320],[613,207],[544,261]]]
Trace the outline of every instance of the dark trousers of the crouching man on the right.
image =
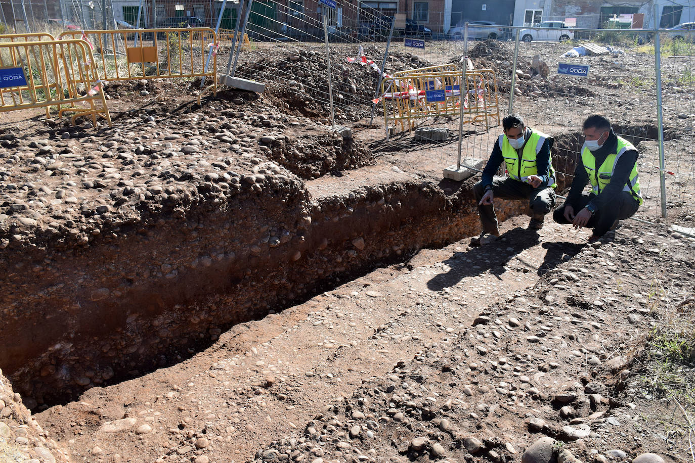
[[[589,204],[589,201],[596,198],[594,193],[582,193],[576,201],[569,203],[574,209],[574,214],[578,214],[580,210],[584,209],[584,206]],[[563,205],[555,209],[553,212],[553,220],[558,224],[571,224],[572,222],[565,219],[564,210],[565,205],[568,202],[565,201]],[[594,236],[603,236],[610,230],[616,220],[629,219],[639,208],[639,203],[632,197],[632,194],[628,192],[620,192],[620,194],[613,200],[607,201],[600,210],[596,211],[596,214],[591,216],[589,222],[587,222],[587,227],[594,228]]]

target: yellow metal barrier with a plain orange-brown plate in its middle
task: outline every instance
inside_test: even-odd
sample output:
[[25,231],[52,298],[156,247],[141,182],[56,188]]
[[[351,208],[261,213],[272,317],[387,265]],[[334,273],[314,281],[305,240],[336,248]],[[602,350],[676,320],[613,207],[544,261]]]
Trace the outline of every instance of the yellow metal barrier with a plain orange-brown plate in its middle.
[[[99,77],[107,81],[153,78],[211,78],[198,96],[217,95],[219,42],[211,28],[66,31],[58,38],[82,38],[95,50]],[[206,70],[206,59],[212,53]]]

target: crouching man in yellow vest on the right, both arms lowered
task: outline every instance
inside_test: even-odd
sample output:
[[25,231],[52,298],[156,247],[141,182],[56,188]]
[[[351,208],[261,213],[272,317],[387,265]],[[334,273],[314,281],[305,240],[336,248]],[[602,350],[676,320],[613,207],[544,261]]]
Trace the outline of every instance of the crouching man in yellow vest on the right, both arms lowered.
[[[590,242],[635,215],[644,203],[639,191],[637,149],[615,135],[610,121],[591,115],[584,121],[584,146],[574,169],[567,201],[553,212],[558,224],[592,227]],[[583,192],[591,183],[591,192]]]

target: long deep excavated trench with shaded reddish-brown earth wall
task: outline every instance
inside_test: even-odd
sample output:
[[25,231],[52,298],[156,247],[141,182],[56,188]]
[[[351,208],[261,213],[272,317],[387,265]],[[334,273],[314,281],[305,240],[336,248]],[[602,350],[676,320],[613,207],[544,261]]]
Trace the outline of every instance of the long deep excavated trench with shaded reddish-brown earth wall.
[[[556,137],[557,170],[573,171],[579,146],[578,133]],[[207,201],[163,200],[88,247],[56,237],[22,249],[0,262],[0,365],[27,407],[65,403],[180,362],[237,323],[479,233],[476,178],[390,177],[359,187],[243,184]],[[559,175],[560,190],[570,179]],[[526,206],[498,201],[496,210],[505,220]]]

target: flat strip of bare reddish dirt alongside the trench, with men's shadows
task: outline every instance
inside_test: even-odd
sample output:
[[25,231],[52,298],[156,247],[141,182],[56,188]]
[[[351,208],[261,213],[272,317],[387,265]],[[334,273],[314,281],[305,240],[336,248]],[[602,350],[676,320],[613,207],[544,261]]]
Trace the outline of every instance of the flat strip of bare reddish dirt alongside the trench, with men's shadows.
[[[364,381],[470,329],[480,312],[570,260],[587,237],[548,224],[537,239],[521,217],[503,228],[490,246],[468,249],[463,241],[420,251],[404,265],[236,326],[177,366],[90,389],[38,420],[75,461],[250,460],[255,448],[301,430]],[[108,432],[108,422],[124,430]],[[207,445],[196,449],[197,442]]]

